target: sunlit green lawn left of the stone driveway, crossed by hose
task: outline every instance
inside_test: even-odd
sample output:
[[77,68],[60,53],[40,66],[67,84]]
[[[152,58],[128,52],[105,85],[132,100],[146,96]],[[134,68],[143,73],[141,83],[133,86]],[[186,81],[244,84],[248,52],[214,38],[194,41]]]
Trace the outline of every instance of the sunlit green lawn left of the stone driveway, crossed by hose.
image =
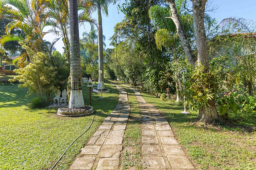
[[[115,108],[118,91],[106,83],[110,93],[92,93],[94,110],[103,109],[95,121],[66,152],[55,169],[67,169],[89,137],[101,125],[103,119]],[[18,88],[16,84],[0,85],[0,169],[46,170],[61,156],[67,146],[91,123],[93,115],[82,117],[60,117],[57,109],[31,109],[28,103],[36,96],[25,97],[28,89]],[[89,104],[89,91],[83,86],[85,104]]]

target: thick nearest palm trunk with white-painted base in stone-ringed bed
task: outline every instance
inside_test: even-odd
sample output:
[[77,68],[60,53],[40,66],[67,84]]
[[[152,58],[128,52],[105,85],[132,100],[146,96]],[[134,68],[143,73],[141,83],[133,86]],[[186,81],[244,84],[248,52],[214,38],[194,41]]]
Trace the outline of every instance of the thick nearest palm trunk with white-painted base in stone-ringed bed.
[[69,29],[70,29],[70,98],[69,108],[84,107],[82,93],[81,58],[79,44],[77,1],[69,0]]

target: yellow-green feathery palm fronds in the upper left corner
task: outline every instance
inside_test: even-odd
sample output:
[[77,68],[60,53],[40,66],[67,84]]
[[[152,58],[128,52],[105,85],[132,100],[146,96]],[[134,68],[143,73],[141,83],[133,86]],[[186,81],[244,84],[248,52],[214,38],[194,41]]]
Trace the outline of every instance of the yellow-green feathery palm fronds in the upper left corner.
[[[23,41],[31,49],[35,51],[43,51],[46,49],[51,56],[51,50],[49,46],[43,41],[44,34],[42,33],[43,23],[45,21],[44,10],[46,8],[46,1],[41,0],[0,0],[1,4],[12,5],[15,8],[1,8],[0,15],[8,19],[12,19],[6,26],[6,34],[0,39],[1,46],[5,42],[10,41]],[[21,29],[25,33],[25,38],[20,36],[11,35],[12,29]],[[27,59],[27,53],[24,52],[20,57],[20,63]],[[51,58],[52,59],[52,58]],[[55,65],[52,59],[53,65]]]

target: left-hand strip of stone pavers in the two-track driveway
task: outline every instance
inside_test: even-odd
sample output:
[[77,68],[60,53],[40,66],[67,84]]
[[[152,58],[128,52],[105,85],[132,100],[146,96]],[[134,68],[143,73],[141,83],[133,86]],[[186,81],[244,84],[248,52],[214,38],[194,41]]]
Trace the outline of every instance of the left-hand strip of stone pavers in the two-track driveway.
[[[116,85],[114,85],[116,86]],[[71,170],[118,170],[124,130],[130,114],[127,92],[116,86],[119,101],[71,165]]]

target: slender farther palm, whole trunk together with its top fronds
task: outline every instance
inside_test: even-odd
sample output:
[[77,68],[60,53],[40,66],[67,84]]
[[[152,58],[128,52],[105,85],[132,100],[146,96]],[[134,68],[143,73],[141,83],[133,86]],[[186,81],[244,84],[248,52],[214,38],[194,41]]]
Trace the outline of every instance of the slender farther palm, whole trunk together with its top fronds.
[[104,84],[104,66],[103,66],[103,30],[102,30],[102,17],[101,11],[103,14],[108,16],[108,6],[112,3],[113,0],[94,0],[93,3],[97,6],[98,13],[98,49],[99,49],[99,70],[102,70],[101,77],[99,75],[99,83],[97,89],[105,89]]

